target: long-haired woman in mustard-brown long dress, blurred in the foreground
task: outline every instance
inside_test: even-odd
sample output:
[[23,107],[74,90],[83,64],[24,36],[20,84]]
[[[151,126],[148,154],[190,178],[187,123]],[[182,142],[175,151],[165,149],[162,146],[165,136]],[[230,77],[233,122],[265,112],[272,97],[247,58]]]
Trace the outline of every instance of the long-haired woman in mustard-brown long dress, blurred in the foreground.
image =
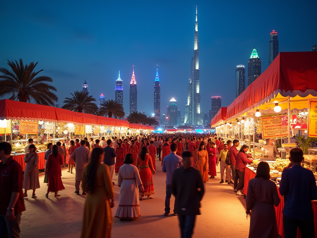
[[88,193],[81,230],[81,238],[110,238],[112,228],[113,185],[107,165],[101,163],[105,152],[93,149],[91,159],[83,170],[82,188]]

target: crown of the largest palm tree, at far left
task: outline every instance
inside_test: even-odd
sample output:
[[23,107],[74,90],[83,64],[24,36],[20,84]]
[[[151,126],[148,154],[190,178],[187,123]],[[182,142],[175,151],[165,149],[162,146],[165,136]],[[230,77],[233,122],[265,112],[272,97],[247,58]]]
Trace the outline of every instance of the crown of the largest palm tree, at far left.
[[19,100],[20,102],[30,102],[34,100],[36,104],[54,106],[58,101],[58,97],[53,91],[57,91],[54,86],[48,83],[53,82],[49,76],[37,76],[40,71],[34,71],[38,62],[23,64],[20,59],[20,64],[15,61],[9,61],[8,64],[13,71],[0,67],[0,97],[11,95],[10,100]]

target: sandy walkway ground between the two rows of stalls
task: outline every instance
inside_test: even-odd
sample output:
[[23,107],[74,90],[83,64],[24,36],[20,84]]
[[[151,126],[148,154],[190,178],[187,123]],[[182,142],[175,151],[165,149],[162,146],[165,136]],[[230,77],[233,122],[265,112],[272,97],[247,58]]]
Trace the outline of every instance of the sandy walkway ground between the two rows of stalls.
[[[134,221],[119,221],[113,219],[112,237],[149,237],[165,238],[180,237],[178,219],[176,216],[163,216],[165,202],[165,173],[161,170],[161,162],[156,158],[157,174],[153,176],[155,194],[154,199],[140,201],[141,217]],[[117,185],[117,176],[114,182]],[[36,190],[36,198],[25,198],[26,211],[21,219],[21,237],[80,237],[81,221],[85,196],[74,194],[75,174],[62,170],[62,181],[65,190],[61,196],[55,198],[53,193],[49,199],[45,197],[47,186],[42,183],[44,176],[40,176],[41,188]],[[193,237],[235,237],[245,238],[249,234],[249,220],[245,216],[245,202],[243,196],[236,196],[233,186],[219,184],[220,172],[217,167],[216,179],[205,183],[205,195],[202,200],[201,214],[197,216]],[[119,203],[119,187],[115,186],[114,216]],[[172,197],[171,208],[174,199]]]

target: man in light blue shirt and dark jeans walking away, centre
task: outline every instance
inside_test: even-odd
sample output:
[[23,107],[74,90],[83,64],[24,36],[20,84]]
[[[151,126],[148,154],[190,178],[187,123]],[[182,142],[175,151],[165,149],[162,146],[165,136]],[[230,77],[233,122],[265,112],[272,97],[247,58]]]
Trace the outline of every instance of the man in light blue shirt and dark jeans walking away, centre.
[[[171,144],[171,154],[165,156],[162,166],[162,171],[166,173],[166,197],[165,197],[165,216],[170,214],[170,200],[172,196],[172,178],[175,169],[178,169],[182,166],[182,157],[176,155],[177,153],[177,144]],[[177,215],[174,206],[174,216]]]

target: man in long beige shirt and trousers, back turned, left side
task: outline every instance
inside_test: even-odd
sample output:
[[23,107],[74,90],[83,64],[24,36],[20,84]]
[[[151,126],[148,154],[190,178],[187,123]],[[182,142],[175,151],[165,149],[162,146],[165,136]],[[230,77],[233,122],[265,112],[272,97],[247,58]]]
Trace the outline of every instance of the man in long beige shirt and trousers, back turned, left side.
[[[81,146],[79,148],[76,148],[71,156],[71,158],[74,160],[76,166],[76,175],[75,175],[75,194],[79,195],[79,186],[81,180],[81,175],[83,169],[86,167],[88,161],[90,160],[90,150],[85,147],[86,141],[81,140],[80,141]],[[82,189],[81,189],[82,190]],[[86,195],[85,191],[82,191],[82,195]]]

